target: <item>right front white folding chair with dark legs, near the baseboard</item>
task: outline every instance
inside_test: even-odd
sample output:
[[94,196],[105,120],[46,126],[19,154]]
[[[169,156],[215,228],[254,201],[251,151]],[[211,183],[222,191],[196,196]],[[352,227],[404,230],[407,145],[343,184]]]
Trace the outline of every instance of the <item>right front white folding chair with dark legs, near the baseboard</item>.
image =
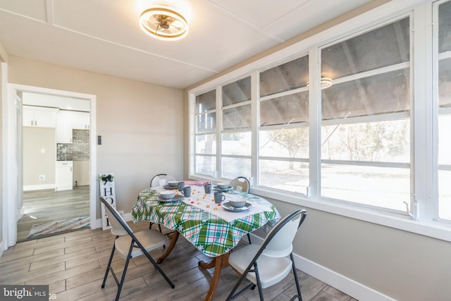
[[[247,289],[257,286],[260,300],[264,301],[263,289],[279,283],[292,270],[295,276],[297,295],[293,296],[291,300],[299,299],[302,301],[301,288],[299,287],[293,259],[292,242],[306,216],[307,211],[298,209],[280,219],[266,235],[261,245],[246,245],[230,253],[228,262],[241,276],[228,295],[227,300],[233,300]],[[235,294],[245,278],[251,283]]]

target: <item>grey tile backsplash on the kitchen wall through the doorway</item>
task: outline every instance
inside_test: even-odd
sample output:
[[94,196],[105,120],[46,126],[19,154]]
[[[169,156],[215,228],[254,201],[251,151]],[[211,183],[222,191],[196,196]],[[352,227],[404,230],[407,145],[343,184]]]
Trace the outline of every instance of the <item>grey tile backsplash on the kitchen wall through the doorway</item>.
[[56,143],[56,160],[89,160],[89,130],[72,130],[72,143]]

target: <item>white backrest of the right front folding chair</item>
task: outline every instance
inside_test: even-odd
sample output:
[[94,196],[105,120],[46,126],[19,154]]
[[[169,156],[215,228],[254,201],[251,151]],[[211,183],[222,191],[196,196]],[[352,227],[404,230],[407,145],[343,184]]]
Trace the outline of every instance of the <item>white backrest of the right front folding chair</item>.
[[280,219],[261,244],[262,253],[268,257],[285,257],[292,252],[292,242],[297,229],[307,216],[305,209],[298,209]]

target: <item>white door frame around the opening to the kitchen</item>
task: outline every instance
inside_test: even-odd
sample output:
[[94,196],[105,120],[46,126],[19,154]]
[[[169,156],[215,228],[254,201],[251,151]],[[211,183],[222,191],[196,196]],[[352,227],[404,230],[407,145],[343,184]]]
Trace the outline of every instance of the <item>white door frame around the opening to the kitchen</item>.
[[[4,231],[4,242],[6,247],[16,245],[17,242],[17,222],[20,217],[20,196],[22,195],[22,187],[18,187],[16,178],[23,178],[23,166],[21,160],[22,149],[18,149],[17,140],[21,137],[18,131],[22,128],[17,126],[18,116],[16,113],[16,97],[18,92],[31,92],[39,94],[51,94],[61,97],[72,97],[79,99],[87,99],[90,102],[90,132],[89,132],[89,225],[92,230],[97,228],[97,145],[96,145],[96,96],[92,94],[83,94],[78,92],[70,92],[64,90],[54,90],[43,87],[35,87],[29,85],[18,85],[8,83],[8,97],[6,111],[4,112],[4,133],[7,133],[6,145],[4,145],[4,225],[7,231]],[[56,146],[55,146],[56,147]],[[20,191],[19,191],[20,190]]]

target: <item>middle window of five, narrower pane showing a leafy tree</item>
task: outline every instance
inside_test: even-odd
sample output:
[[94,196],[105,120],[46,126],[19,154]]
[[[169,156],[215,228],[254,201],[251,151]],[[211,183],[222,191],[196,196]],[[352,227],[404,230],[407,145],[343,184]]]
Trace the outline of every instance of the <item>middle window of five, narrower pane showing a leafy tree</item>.
[[309,56],[260,73],[259,185],[309,186]]

